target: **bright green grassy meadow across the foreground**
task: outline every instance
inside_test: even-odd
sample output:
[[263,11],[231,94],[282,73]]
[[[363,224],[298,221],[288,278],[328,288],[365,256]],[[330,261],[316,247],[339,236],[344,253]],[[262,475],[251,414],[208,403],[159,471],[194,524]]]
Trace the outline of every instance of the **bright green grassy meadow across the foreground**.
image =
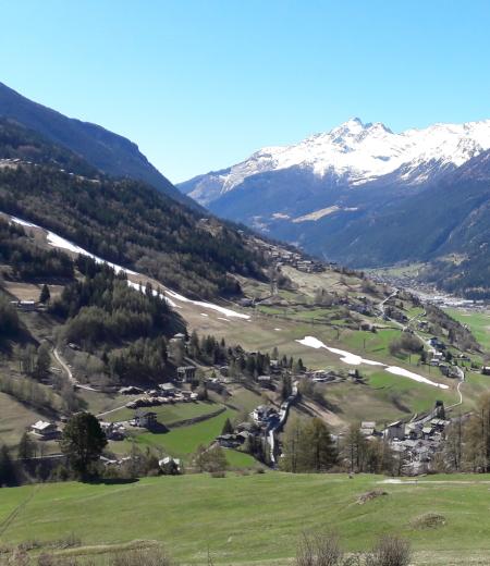
[[[289,564],[304,530],[334,529],[350,551],[392,533],[412,542],[414,564],[483,565],[490,564],[489,485],[489,476],[396,484],[377,476],[279,472],[30,485],[2,490],[0,541],[47,544],[74,533],[83,546],[72,552],[79,554],[161,541],[184,564],[207,564],[209,546],[215,564],[258,566]],[[375,489],[385,495],[360,505],[358,497]],[[427,513],[443,524],[425,528]]]

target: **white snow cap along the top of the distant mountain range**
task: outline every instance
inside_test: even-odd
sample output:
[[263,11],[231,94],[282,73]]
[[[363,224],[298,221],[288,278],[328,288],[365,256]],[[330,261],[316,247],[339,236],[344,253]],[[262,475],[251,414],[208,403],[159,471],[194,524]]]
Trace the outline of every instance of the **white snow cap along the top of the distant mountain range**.
[[355,118],[297,145],[262,148],[242,163],[183,185],[193,198],[208,205],[250,175],[293,167],[318,177],[333,175],[346,185],[360,185],[394,172],[401,181],[417,184],[448,167],[462,165],[486,149],[490,149],[490,120],[434,124],[395,134],[379,122],[364,124]]

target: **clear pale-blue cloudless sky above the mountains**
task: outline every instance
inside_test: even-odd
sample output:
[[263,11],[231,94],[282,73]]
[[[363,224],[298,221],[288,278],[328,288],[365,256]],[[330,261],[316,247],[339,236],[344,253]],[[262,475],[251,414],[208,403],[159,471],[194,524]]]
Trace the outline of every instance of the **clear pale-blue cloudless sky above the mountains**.
[[490,119],[488,0],[0,0],[0,82],[172,182],[350,118]]

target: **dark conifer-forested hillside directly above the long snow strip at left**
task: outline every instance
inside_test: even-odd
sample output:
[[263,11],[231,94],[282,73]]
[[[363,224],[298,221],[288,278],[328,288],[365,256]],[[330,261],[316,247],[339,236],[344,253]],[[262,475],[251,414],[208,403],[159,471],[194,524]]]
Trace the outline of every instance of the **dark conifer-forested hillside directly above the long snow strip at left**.
[[196,298],[240,294],[232,273],[262,276],[264,258],[235,226],[204,219],[140,181],[103,175],[79,156],[1,119],[0,212]]

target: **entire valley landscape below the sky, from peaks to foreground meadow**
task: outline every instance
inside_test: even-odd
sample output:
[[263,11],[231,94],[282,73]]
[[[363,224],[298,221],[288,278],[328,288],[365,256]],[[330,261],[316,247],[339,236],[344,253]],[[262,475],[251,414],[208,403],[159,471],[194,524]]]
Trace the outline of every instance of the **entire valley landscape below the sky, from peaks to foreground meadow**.
[[0,84],[0,564],[487,564],[489,135],[355,119],[183,196]]

